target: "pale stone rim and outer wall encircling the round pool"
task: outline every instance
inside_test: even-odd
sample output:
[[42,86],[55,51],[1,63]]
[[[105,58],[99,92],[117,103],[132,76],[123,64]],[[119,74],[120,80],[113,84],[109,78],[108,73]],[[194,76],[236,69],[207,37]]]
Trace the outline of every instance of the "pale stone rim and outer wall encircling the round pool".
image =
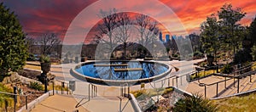
[[[145,63],[154,63],[154,64],[160,64],[163,65],[167,68],[167,70],[159,75],[156,76],[151,76],[148,78],[143,78],[143,79],[136,79],[136,80],[122,80],[122,81],[117,81],[117,80],[105,80],[105,79],[101,79],[101,78],[95,78],[95,77],[91,77],[91,76],[86,76],[83,75],[81,73],[79,73],[78,71],[76,71],[75,69],[85,65],[85,64],[95,64],[97,62],[145,62]],[[92,60],[92,61],[88,61],[88,62],[82,62],[79,63],[77,65],[75,65],[75,67],[73,67],[70,70],[70,73],[72,76],[74,76],[75,78],[81,80],[81,81],[87,81],[87,82],[91,82],[91,83],[95,83],[95,84],[102,84],[102,85],[109,85],[109,86],[120,86],[121,84],[140,84],[142,82],[151,82],[151,81],[157,81],[160,80],[161,78],[169,75],[172,71],[172,66],[169,64],[165,64],[165,63],[160,63],[158,61],[154,61],[154,60]]]

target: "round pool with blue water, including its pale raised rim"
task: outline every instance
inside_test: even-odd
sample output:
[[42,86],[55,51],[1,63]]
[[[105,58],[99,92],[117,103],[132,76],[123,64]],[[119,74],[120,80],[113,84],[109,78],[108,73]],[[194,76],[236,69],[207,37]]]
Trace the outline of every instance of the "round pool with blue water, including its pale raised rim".
[[73,76],[93,83],[120,85],[158,80],[171,72],[168,64],[155,61],[91,61],[78,64]]

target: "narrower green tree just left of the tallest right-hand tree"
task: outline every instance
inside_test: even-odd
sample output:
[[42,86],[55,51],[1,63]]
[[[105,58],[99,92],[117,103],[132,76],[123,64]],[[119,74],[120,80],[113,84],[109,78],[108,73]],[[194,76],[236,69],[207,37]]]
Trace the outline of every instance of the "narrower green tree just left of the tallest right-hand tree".
[[[209,56],[214,56],[217,60],[217,52],[220,48],[219,38],[219,23],[215,14],[207,17],[207,21],[201,24],[201,42],[205,53]],[[217,63],[217,61],[215,61]],[[211,64],[211,62],[210,62]]]

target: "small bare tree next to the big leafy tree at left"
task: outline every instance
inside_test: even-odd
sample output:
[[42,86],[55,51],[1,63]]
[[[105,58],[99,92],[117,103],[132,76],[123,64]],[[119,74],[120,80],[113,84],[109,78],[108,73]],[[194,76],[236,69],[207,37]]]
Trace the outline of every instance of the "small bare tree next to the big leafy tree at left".
[[47,54],[50,53],[52,50],[58,50],[60,49],[61,40],[60,38],[55,34],[44,34],[44,36],[41,36],[38,41],[38,45],[41,45],[41,53]]

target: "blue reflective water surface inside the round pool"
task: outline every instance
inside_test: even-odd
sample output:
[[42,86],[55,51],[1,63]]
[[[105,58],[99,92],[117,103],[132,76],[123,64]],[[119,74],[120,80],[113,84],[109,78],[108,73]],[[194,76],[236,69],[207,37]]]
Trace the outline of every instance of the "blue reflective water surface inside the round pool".
[[[126,66],[95,66],[95,64],[127,64]],[[125,68],[142,68],[143,70],[131,70],[131,71],[115,71],[116,69]],[[152,76],[158,76],[166,70],[168,66],[164,64],[158,64],[153,62],[143,62],[143,61],[111,61],[111,62],[95,62],[90,64],[81,65],[79,68],[75,69],[80,74],[84,76],[90,76],[94,78],[100,78],[104,80],[137,80],[148,78]]]

